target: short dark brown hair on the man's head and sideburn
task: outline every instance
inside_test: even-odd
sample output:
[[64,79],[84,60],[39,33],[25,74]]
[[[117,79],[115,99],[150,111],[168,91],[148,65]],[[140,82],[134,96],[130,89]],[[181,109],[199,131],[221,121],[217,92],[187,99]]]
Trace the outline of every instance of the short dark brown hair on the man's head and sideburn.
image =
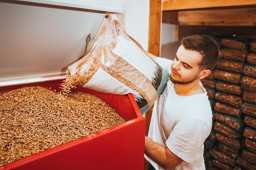
[[197,51],[202,55],[200,69],[214,70],[218,62],[219,48],[217,43],[207,35],[191,35],[184,37],[181,44],[185,49]]

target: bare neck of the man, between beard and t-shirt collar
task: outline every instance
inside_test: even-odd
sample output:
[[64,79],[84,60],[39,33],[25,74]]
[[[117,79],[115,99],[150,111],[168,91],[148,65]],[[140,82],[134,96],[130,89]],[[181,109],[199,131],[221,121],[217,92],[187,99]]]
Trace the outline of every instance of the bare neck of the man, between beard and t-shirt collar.
[[175,92],[180,96],[190,96],[204,93],[199,84],[199,81],[194,81],[189,84],[175,84],[174,89]]

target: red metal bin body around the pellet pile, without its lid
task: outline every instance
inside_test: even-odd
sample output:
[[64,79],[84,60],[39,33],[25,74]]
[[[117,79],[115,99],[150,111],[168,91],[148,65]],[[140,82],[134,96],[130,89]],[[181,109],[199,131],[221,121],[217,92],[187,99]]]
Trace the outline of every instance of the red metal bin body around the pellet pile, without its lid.
[[[62,80],[0,87],[0,92],[24,86],[57,89]],[[115,95],[73,88],[96,95],[128,121],[81,139],[1,166],[0,170],[143,170],[146,119],[133,95]]]

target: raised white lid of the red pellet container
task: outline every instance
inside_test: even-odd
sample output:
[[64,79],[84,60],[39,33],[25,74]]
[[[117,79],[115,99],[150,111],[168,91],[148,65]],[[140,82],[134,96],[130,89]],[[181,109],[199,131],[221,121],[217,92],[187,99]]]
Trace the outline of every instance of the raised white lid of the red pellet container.
[[88,35],[89,52],[107,15],[124,11],[82,0],[0,0],[0,86],[65,78]]

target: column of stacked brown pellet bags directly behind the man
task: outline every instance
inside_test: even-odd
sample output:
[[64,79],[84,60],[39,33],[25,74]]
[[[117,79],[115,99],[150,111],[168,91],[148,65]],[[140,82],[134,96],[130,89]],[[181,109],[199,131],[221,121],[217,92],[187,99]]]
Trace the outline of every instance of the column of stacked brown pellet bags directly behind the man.
[[218,147],[212,153],[212,166],[222,170],[243,169],[239,160],[243,155],[245,139],[243,78],[247,65],[246,57],[249,54],[249,41],[241,37],[220,40],[223,48],[220,49],[219,61],[213,72],[213,130],[216,132]]

